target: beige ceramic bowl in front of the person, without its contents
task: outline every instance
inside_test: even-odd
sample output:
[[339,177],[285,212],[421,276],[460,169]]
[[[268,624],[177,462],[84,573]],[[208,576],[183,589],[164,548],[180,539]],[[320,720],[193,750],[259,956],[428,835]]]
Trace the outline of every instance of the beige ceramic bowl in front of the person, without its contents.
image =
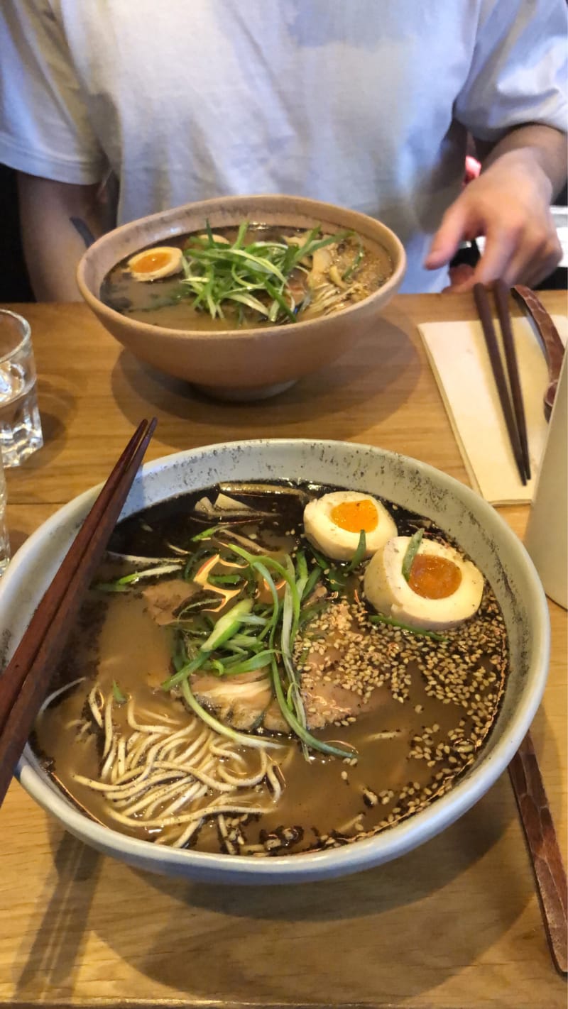
[[[371,245],[386,248],[392,274],[369,298],[335,315],[261,329],[212,333],[165,329],[120,315],[101,302],[101,283],[117,262],[147,245],[199,231],[206,220],[214,230],[242,220],[295,228],[321,224],[330,233],[352,228]],[[293,196],[231,196],[176,207],[116,228],[87,250],[77,279],[105,329],[136,357],[217,397],[254,400],[279,393],[335,360],[372,329],[399,289],[405,267],[405,250],[396,235],[364,214]]]

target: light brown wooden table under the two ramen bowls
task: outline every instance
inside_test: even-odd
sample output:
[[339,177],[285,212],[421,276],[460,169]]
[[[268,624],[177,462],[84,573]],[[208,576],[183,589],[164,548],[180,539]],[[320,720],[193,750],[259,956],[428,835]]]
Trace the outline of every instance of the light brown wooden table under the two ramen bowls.
[[[564,296],[549,294],[550,311]],[[466,482],[415,324],[472,316],[467,296],[399,297],[333,366],[259,406],[208,402],[138,364],[81,305],[31,322],[45,447],[8,471],[17,547],[102,480],[155,414],[148,457],[256,436],[396,449]],[[503,509],[519,535],[526,508]],[[566,835],[566,613],[551,603],[550,680],[533,726]],[[548,952],[508,778],[389,865],[265,889],[145,875],[84,848],[14,783],[0,810],[0,1002],[10,1006],[473,1006],[566,1003]]]

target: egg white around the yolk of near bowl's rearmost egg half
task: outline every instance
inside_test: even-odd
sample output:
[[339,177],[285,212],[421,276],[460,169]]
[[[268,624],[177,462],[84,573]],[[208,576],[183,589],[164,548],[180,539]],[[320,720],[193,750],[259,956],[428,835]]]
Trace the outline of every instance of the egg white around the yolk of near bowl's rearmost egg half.
[[366,550],[364,557],[371,557],[387,540],[396,536],[396,526],[386,509],[370,494],[356,490],[334,490],[311,500],[304,510],[304,532],[317,550],[335,561],[350,561],[359,543],[359,532],[350,533],[336,526],[331,513],[337,504],[345,501],[370,500],[376,510],[376,527],[365,533]]

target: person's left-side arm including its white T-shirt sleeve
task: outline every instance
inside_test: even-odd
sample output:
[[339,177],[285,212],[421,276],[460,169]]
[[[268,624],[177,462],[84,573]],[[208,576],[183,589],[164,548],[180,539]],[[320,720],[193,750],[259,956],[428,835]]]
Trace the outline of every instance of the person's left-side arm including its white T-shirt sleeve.
[[79,298],[75,269],[85,243],[71,218],[101,233],[96,195],[109,167],[58,6],[0,3],[0,160],[18,173],[32,289],[51,301]]

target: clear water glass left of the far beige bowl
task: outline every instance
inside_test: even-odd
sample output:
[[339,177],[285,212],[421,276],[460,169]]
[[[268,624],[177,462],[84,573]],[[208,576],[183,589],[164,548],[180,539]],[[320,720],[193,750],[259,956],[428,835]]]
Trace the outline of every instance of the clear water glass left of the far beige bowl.
[[31,329],[15,312],[0,309],[0,450],[4,466],[19,466],[42,444]]

